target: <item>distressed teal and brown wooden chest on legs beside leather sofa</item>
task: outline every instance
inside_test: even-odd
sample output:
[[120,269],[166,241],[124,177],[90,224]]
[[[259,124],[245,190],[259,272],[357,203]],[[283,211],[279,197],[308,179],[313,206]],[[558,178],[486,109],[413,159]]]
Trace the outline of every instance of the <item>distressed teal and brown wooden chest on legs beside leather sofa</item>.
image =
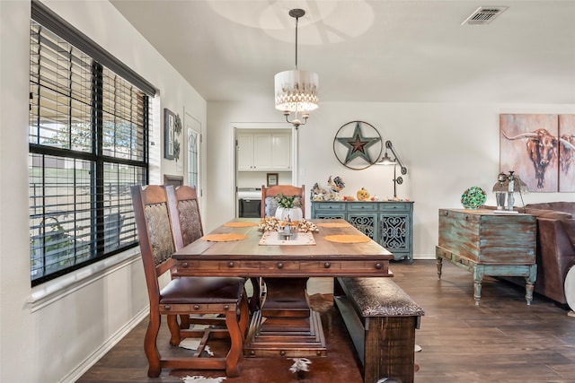
[[487,209],[439,209],[436,258],[439,278],[444,259],[473,273],[476,305],[481,299],[483,275],[524,276],[529,305],[537,272],[535,216]]

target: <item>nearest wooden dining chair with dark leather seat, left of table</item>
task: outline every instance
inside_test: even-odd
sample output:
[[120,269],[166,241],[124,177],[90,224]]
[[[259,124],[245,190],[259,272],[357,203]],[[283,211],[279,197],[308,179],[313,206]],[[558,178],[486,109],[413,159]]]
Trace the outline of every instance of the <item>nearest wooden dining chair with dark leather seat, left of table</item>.
[[[243,295],[243,278],[176,277],[160,288],[158,277],[173,270],[175,251],[166,190],[162,186],[131,187],[137,237],[146,275],[150,302],[149,322],[144,339],[148,361],[147,375],[156,378],[163,368],[189,370],[226,370],[228,377],[240,374],[243,337],[247,329],[248,309]],[[213,314],[222,318],[219,328],[181,329],[178,316]],[[198,350],[186,356],[163,357],[157,348],[162,317],[167,318],[170,344],[178,346],[182,338],[200,337]],[[209,339],[229,337],[231,346],[225,357],[202,357]],[[181,353],[189,353],[181,349]]]

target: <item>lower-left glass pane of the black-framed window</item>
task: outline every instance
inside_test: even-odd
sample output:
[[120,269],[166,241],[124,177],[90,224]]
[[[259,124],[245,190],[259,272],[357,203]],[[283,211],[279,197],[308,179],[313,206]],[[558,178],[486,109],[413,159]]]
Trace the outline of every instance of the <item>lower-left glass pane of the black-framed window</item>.
[[34,280],[93,257],[92,164],[31,153],[29,165]]

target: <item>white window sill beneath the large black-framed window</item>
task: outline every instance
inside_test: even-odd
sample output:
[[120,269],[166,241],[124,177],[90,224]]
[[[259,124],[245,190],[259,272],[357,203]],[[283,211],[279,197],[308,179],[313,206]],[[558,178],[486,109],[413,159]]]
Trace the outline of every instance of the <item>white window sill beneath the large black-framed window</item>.
[[31,297],[26,303],[30,307],[31,312],[38,311],[57,300],[61,300],[66,295],[82,289],[84,286],[114,273],[120,268],[139,262],[139,260],[139,248],[130,248],[117,256],[103,259],[93,265],[87,265],[74,273],[63,275],[53,281],[33,287]]

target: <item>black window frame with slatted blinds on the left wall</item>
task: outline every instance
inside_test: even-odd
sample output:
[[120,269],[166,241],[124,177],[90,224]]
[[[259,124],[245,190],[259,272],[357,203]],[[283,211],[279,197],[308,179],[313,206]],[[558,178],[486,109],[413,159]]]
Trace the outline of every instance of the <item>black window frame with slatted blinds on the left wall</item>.
[[[89,127],[89,135],[90,137],[86,140],[86,141],[90,141],[92,144],[90,145],[91,148],[89,150],[77,150],[77,148],[72,147],[72,138],[70,138],[70,147],[68,148],[62,148],[62,147],[57,147],[56,145],[49,145],[49,144],[40,144],[40,133],[38,134],[38,138],[39,138],[39,142],[38,143],[33,143],[31,142],[31,139],[29,138],[29,156],[30,156],[30,161],[31,161],[31,169],[41,169],[42,172],[42,177],[45,177],[46,175],[46,170],[47,168],[45,167],[46,164],[46,159],[50,159],[51,161],[72,161],[74,163],[74,166],[72,168],[72,170],[68,170],[66,174],[75,174],[75,170],[76,167],[78,166],[78,163],[84,163],[84,164],[88,164],[89,169],[85,170],[84,173],[89,174],[89,195],[90,195],[90,200],[88,203],[84,203],[85,205],[89,205],[90,206],[90,218],[84,218],[84,222],[85,221],[89,221],[89,234],[84,235],[84,238],[89,237],[89,241],[87,241],[86,243],[84,243],[84,247],[89,247],[88,253],[87,253],[87,259],[84,259],[82,261],[79,261],[76,263],[76,255],[77,255],[77,238],[74,235],[72,238],[73,239],[63,239],[61,241],[64,240],[73,240],[74,241],[74,245],[73,245],[73,252],[74,252],[74,265],[69,265],[66,267],[62,267],[57,269],[57,271],[55,272],[51,272],[49,274],[42,274],[40,277],[34,278],[34,274],[33,274],[33,266],[32,266],[32,262],[31,262],[31,286],[38,286],[41,283],[46,283],[50,280],[53,280],[61,275],[64,274],[69,274],[74,272],[75,270],[78,270],[86,265],[92,265],[93,263],[102,261],[103,259],[106,259],[108,257],[111,257],[115,254],[118,254],[120,252],[126,251],[129,248],[135,248],[137,247],[137,235],[136,235],[136,228],[135,228],[135,223],[131,222],[131,227],[128,228],[128,231],[132,232],[133,231],[133,240],[131,240],[131,236],[128,236],[128,243],[123,243],[123,245],[121,244],[121,240],[119,240],[120,244],[119,247],[117,248],[111,248],[108,247],[108,245],[105,243],[107,240],[107,233],[104,231],[104,228],[106,227],[106,214],[105,214],[105,210],[107,208],[107,203],[109,203],[109,201],[106,200],[106,196],[104,196],[104,190],[105,190],[105,178],[106,176],[110,176],[110,174],[113,175],[112,170],[114,169],[114,166],[117,166],[118,168],[123,167],[124,169],[128,169],[128,170],[134,170],[136,172],[135,174],[135,179],[138,179],[141,181],[142,184],[147,184],[148,182],[148,178],[149,178],[149,151],[148,151],[148,143],[149,143],[149,135],[150,135],[150,120],[152,118],[152,112],[151,112],[151,102],[152,100],[151,97],[153,97],[155,95],[155,88],[150,84],[147,83],[146,80],[144,80],[143,78],[141,78],[139,75],[137,75],[133,70],[131,70],[130,68],[128,68],[128,66],[122,64],[121,62],[119,62],[119,60],[117,60],[115,57],[112,57],[108,52],[106,52],[103,48],[101,48],[100,46],[98,46],[97,44],[95,44],[91,39],[88,39],[86,36],[84,36],[84,34],[82,34],[79,30],[75,30],[74,27],[72,27],[69,23],[67,23],[66,21],[64,21],[62,18],[60,18],[59,16],[57,16],[57,14],[52,13],[45,5],[41,4],[40,2],[33,0],[31,2],[31,48],[32,48],[32,43],[33,43],[33,36],[32,36],[32,25],[33,23],[38,23],[40,24],[40,28],[44,28],[46,30],[49,30],[49,32],[57,35],[58,39],[63,39],[66,41],[67,44],[69,44],[70,46],[72,46],[73,48],[81,51],[82,53],[84,53],[84,55],[88,56],[91,58],[92,63],[91,63],[91,68],[92,68],[92,74],[91,74],[91,100],[90,100],[90,105],[89,105],[89,109],[90,109],[90,121],[86,121],[84,120],[84,123],[86,123],[87,126]],[[40,45],[39,45],[40,46]],[[31,49],[31,72],[32,72],[32,55],[33,55],[33,49]],[[40,66],[40,65],[39,65]],[[114,77],[113,75],[116,75],[118,77]],[[140,112],[137,112],[137,118],[142,118],[141,120],[141,129],[139,127],[137,127],[137,132],[141,133],[141,139],[142,139],[142,143],[141,146],[138,147],[139,150],[137,150],[138,156],[137,159],[134,158],[130,158],[131,157],[131,152],[128,151],[128,153],[126,153],[126,151],[124,151],[123,153],[120,152],[119,154],[116,153],[114,155],[114,153],[106,153],[104,152],[104,134],[103,132],[106,131],[106,129],[110,126],[113,126],[113,140],[116,140],[116,134],[118,132],[118,130],[116,129],[116,120],[115,120],[115,114],[110,114],[108,113],[109,116],[112,116],[112,120],[114,121],[113,123],[110,123],[110,121],[106,121],[106,119],[104,118],[104,115],[106,114],[106,99],[103,95],[103,93],[106,91],[105,90],[105,81],[109,81],[109,83],[111,82],[111,78],[116,79],[119,78],[119,80],[124,81],[124,83],[129,83],[130,85],[136,87],[141,93],[143,93],[143,96],[141,96],[141,99],[139,98],[140,96],[137,96],[137,100],[141,100],[141,115],[139,114]],[[116,84],[115,80],[114,80],[114,85]],[[120,86],[121,86],[121,82],[120,82]],[[36,127],[38,128],[38,131],[40,132],[40,125],[42,124],[40,122],[41,120],[41,111],[40,111],[40,95],[38,96],[39,99],[37,100],[37,105],[34,104],[33,102],[33,98],[35,97],[35,95],[33,94],[33,86],[34,83],[32,81],[32,75],[31,75],[31,81],[30,81],[30,85],[31,85],[31,118],[37,117],[38,121],[34,122],[37,125],[33,125],[32,121],[31,121],[31,125],[29,126],[29,129],[32,130],[32,127]],[[114,85],[111,85],[112,90],[115,89],[113,88]],[[38,87],[39,90],[39,94],[40,94],[40,79],[39,79],[39,83],[35,84],[35,86]],[[70,85],[72,86],[72,85]],[[70,91],[72,92],[72,90]],[[72,96],[70,96],[70,99],[72,99]],[[115,106],[116,105],[116,100],[114,99],[112,102],[109,102],[109,105]],[[33,108],[38,107],[38,111],[36,114],[34,114],[34,111],[32,110]],[[115,109],[114,109],[115,110]],[[70,112],[70,114],[72,114],[72,112]],[[70,120],[72,120],[72,118],[70,118]],[[108,122],[108,124],[106,126],[104,126],[105,122]],[[111,124],[111,125],[110,125]],[[120,123],[121,124],[121,123]],[[126,125],[126,124],[124,124]],[[73,123],[70,122],[68,129],[70,132],[72,132],[73,130]],[[126,128],[125,128],[126,129]],[[129,129],[129,127],[128,127]],[[31,135],[31,130],[29,131],[29,137],[33,135]],[[72,134],[70,134],[72,135]],[[139,138],[140,136],[137,135],[137,138]],[[136,140],[133,140],[136,141]],[[131,143],[132,141],[130,141]],[[120,149],[121,149],[121,145],[119,145]],[[116,148],[116,146],[114,146],[114,148]],[[140,157],[140,153],[141,153],[141,157]],[[124,156],[128,156],[128,158],[122,158],[122,154]],[[42,161],[42,165],[41,167],[36,167],[33,168],[32,162],[34,161],[34,159],[38,160],[41,159]],[[40,160],[38,160],[40,161]],[[85,165],[84,165],[85,166]],[[131,167],[131,168],[130,168]],[[80,166],[80,168],[82,168],[82,166]],[[59,170],[60,168],[53,168],[56,170]],[[119,172],[119,171],[118,171]],[[32,172],[31,172],[32,173]],[[129,171],[128,171],[128,175],[129,175]],[[29,183],[31,183],[31,180],[34,179],[34,176],[32,176],[32,174],[29,174]],[[121,176],[119,176],[120,178]],[[75,176],[73,176],[74,178],[74,183],[72,184],[75,190],[75,187],[77,186],[77,184],[75,183]],[[130,179],[128,177],[128,179]],[[60,184],[57,184],[60,185]],[[68,184],[69,185],[69,184]],[[118,190],[119,190],[119,186],[122,186],[123,184],[119,183],[118,185]],[[69,189],[70,187],[67,187],[68,189],[68,193],[69,193]],[[128,187],[129,189],[129,187]],[[119,193],[119,191],[118,191]],[[129,193],[129,190],[128,190]],[[31,196],[31,201],[34,199],[34,195]],[[45,197],[44,194],[42,194],[41,197]],[[75,198],[75,196],[74,196]],[[124,196],[124,204],[123,207],[119,207],[119,209],[121,210],[123,209],[128,209],[128,215],[129,213],[132,214],[133,216],[133,209],[131,207],[131,199],[130,199],[130,204],[129,206],[127,206],[126,204],[126,199]],[[74,204],[67,204],[67,205],[74,205]],[[51,215],[50,214],[46,214],[45,213],[45,209],[41,209],[42,206],[45,207],[44,205],[36,205],[36,204],[32,204],[31,203],[31,260],[32,260],[32,251],[36,251],[35,248],[32,248],[32,243],[33,240],[35,239],[39,239],[41,240],[40,242],[40,248],[42,251],[42,260],[45,262],[46,259],[46,247],[47,247],[47,241],[46,241],[46,237],[49,235],[53,235],[53,234],[48,234],[47,235],[47,223],[45,222],[46,218],[50,218]],[[74,205],[75,206],[75,205]],[[108,206],[109,207],[109,206]],[[34,209],[36,208],[40,208],[42,210],[42,224],[41,227],[39,228],[38,226],[38,216],[36,216],[36,224],[32,224],[32,212],[34,211]],[[124,210],[126,212],[126,210]],[[65,212],[66,213],[66,212]],[[71,212],[70,212],[71,213]],[[75,213],[75,212],[74,212]],[[75,214],[74,214],[75,217]],[[52,217],[54,218],[54,217]],[[66,218],[67,219],[67,218]],[[118,219],[119,220],[119,219]],[[75,221],[75,218],[72,219],[72,221],[67,221],[66,224],[68,227],[72,227],[73,231],[77,231],[76,226],[77,226],[77,221]],[[56,220],[56,223],[52,222],[51,224],[48,225],[49,228],[62,228],[61,222],[58,222]],[[84,228],[87,228],[88,226],[84,226]],[[32,233],[35,232],[38,229],[38,235],[33,235]],[[67,231],[65,231],[67,234]],[[70,238],[70,237],[68,237]],[[58,239],[59,240],[59,239]],[[56,243],[56,242],[50,242],[50,243]],[[72,245],[70,245],[72,246]],[[85,250],[84,250],[85,251]],[[46,265],[42,264],[42,267],[44,269],[46,269]]]

